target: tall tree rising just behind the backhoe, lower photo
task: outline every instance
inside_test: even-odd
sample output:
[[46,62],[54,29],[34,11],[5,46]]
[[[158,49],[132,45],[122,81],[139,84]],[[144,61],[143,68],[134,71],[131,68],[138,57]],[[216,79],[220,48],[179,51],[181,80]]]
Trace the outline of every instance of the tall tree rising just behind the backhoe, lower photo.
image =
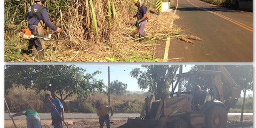
[[135,68],[130,72],[130,75],[138,80],[141,90],[149,89],[149,92],[155,94],[156,100],[169,93],[178,65],[142,65],[141,67],[147,70],[142,71],[140,68]]

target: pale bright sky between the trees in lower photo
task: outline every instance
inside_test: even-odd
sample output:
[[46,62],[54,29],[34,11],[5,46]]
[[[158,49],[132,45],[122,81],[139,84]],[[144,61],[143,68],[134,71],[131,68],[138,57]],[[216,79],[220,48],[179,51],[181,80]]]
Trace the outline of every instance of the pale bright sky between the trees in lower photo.
[[[102,71],[102,74],[98,74],[95,77],[97,79],[103,79],[103,83],[108,85],[108,66],[110,67],[110,83],[118,80],[119,82],[127,84],[127,91],[142,91],[139,89],[137,84],[137,79],[132,78],[130,71],[134,68],[140,68],[141,70],[146,70],[142,68],[141,65],[76,65],[86,69],[86,73],[92,74],[96,70]],[[183,66],[183,73],[189,71],[192,65]],[[179,73],[177,71],[177,73]],[[148,91],[148,90],[144,90]]]

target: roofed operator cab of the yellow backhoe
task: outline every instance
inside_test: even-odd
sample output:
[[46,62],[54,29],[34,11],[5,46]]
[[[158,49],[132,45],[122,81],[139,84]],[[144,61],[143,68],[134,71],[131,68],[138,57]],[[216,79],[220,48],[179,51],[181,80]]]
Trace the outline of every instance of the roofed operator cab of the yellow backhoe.
[[[193,111],[200,111],[202,110],[205,99],[207,96],[207,90],[206,85],[198,85],[196,81],[205,81],[211,89],[208,89],[208,92],[210,92],[211,98],[210,100],[218,99],[218,95],[214,95],[216,93],[213,93],[216,91],[216,85],[214,82],[214,77],[216,75],[221,75],[221,71],[212,71],[212,70],[200,70],[200,71],[190,71],[188,73],[183,74],[177,74],[176,78],[177,81],[174,84],[171,85],[171,97],[179,97],[182,94],[189,94],[190,95],[190,101],[191,101],[191,107]],[[182,82],[183,88],[182,91],[175,91],[177,90],[178,83]],[[207,102],[207,101],[206,101]]]

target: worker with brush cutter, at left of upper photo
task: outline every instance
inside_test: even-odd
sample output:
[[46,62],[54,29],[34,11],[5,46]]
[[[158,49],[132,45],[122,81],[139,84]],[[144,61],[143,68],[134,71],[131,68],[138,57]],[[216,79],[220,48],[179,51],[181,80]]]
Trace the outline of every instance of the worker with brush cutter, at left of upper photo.
[[[44,23],[47,27],[54,31],[61,31],[61,28],[56,27],[50,21],[46,8],[43,6],[46,0],[35,0],[36,4],[28,8],[28,28],[35,36],[44,37]],[[44,39],[31,38],[30,45],[35,55],[38,55],[38,59],[42,59],[45,50]],[[31,46],[29,46],[29,49]]]

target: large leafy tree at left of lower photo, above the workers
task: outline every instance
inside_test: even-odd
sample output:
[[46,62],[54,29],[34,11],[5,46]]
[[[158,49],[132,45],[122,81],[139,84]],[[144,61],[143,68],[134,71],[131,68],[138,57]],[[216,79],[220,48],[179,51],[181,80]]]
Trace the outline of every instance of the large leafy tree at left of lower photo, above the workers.
[[102,80],[94,78],[101,71],[85,74],[86,70],[74,65],[6,65],[5,92],[13,86],[25,89],[50,91],[61,102],[73,94],[88,97],[95,91],[103,91]]

